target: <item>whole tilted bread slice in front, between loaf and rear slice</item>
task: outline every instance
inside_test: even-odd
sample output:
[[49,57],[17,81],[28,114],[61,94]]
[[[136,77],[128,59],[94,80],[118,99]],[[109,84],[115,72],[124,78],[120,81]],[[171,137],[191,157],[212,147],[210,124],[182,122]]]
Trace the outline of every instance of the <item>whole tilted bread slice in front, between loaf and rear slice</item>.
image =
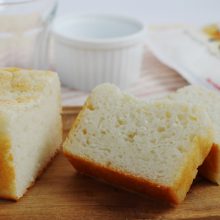
[[146,104],[102,84],[87,99],[63,151],[79,172],[176,204],[212,141],[202,109],[170,101]]

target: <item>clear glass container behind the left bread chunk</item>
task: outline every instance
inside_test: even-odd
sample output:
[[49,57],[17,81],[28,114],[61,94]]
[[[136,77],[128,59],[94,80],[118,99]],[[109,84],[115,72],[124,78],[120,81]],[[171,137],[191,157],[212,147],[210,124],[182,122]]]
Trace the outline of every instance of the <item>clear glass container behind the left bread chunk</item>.
[[0,1],[0,66],[47,67],[56,0]]

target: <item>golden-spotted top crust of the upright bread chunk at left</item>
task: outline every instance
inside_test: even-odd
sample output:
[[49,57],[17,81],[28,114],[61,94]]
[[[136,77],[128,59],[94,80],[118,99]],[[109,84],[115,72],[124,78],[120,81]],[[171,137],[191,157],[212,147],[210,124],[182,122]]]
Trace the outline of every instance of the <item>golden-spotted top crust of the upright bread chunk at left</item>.
[[0,105],[32,103],[40,98],[51,77],[57,76],[50,71],[0,68]]

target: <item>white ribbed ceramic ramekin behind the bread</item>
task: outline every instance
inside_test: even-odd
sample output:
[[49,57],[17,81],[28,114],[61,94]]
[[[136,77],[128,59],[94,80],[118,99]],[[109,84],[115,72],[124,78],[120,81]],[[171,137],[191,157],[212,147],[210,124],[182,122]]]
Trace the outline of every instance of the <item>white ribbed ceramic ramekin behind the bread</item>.
[[64,85],[89,91],[103,82],[126,88],[140,75],[145,27],[116,15],[57,19],[54,65]]

